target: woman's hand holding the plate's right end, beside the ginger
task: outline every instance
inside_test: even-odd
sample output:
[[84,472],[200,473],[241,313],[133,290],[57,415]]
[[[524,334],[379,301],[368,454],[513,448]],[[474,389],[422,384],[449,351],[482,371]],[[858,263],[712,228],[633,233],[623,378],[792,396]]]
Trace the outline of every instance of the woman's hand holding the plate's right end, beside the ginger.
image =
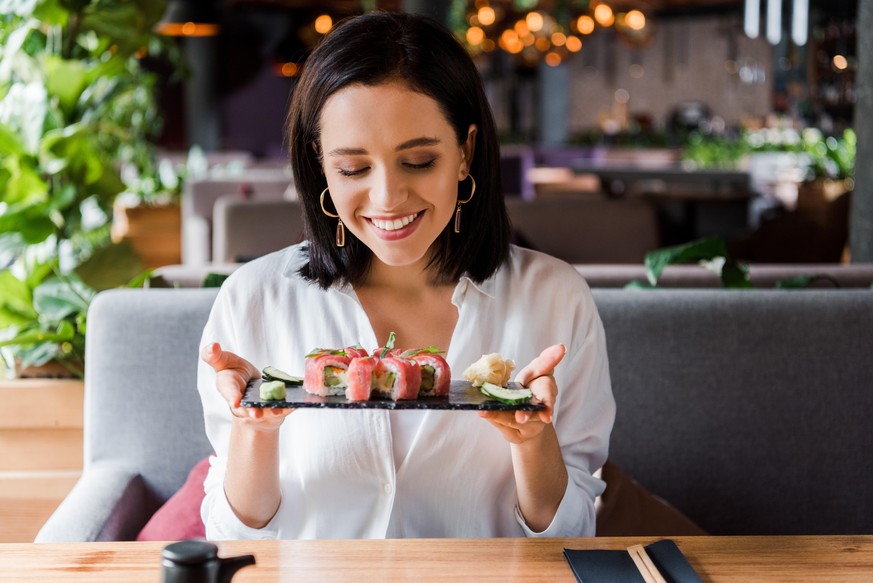
[[552,422],[558,385],[552,373],[564,358],[567,348],[555,344],[543,350],[530,364],[521,369],[515,380],[533,392],[534,397],[545,405],[541,411],[479,411],[479,416],[487,419],[500,430],[510,443],[524,443],[539,436]]

